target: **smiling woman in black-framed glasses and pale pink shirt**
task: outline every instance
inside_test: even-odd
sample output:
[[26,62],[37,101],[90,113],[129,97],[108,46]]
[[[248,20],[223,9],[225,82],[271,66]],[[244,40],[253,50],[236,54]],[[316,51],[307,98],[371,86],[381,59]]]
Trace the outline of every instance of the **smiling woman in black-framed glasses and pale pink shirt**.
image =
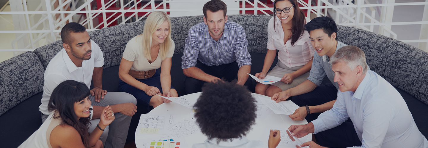
[[[273,12],[275,16],[268,24],[268,52],[262,72],[256,73],[259,79],[266,75],[281,78],[281,81],[273,84],[257,83],[256,93],[270,97],[305,81],[309,77],[315,53],[309,33],[303,29],[306,17],[299,9],[297,0],[275,0]],[[268,73],[276,50],[279,50],[278,62]]]

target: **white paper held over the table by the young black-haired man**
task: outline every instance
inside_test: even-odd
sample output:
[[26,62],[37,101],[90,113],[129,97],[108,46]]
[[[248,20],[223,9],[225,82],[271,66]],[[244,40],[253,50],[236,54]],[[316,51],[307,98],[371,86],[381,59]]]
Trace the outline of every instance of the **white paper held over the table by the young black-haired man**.
[[297,108],[299,108],[299,106],[294,104],[292,101],[280,101],[279,103],[276,103],[271,99],[262,98],[260,96],[259,99],[276,114],[291,115]]

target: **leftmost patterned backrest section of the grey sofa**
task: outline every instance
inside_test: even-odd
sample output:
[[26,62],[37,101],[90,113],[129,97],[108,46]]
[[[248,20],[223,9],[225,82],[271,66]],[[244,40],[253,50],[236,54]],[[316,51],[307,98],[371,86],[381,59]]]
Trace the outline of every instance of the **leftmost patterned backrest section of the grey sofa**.
[[39,58],[30,51],[1,62],[0,116],[25,99],[42,92],[44,73]]

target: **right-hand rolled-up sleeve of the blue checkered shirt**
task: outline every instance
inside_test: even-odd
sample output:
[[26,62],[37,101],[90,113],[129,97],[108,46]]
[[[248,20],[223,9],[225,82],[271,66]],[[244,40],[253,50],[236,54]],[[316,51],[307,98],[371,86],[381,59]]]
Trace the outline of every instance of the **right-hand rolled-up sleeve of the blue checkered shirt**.
[[[186,41],[187,44],[187,41]],[[248,52],[247,49],[248,41],[247,41],[247,35],[245,35],[244,28],[241,27],[238,31],[238,36],[235,44],[235,56],[236,56],[236,63],[238,63],[238,66],[244,66],[244,65],[251,65],[251,55]]]

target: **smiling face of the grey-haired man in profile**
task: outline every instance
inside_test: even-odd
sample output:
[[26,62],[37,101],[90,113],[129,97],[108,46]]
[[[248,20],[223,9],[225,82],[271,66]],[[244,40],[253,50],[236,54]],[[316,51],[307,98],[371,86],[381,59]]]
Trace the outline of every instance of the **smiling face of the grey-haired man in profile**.
[[357,90],[359,83],[359,76],[362,73],[363,68],[361,66],[355,67],[353,70],[345,61],[340,61],[333,64],[331,70],[334,72],[333,81],[339,84],[339,90],[341,92]]

